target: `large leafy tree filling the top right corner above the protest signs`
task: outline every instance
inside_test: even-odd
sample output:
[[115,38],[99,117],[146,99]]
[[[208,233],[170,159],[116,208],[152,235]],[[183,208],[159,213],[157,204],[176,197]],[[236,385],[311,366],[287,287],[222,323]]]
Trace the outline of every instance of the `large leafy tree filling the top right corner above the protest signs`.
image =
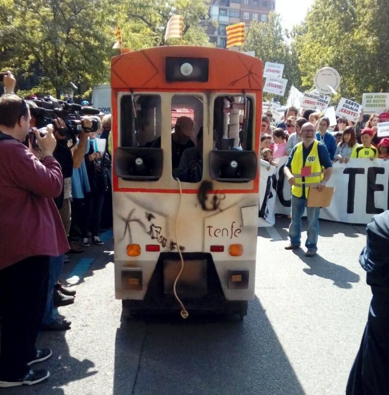
[[362,100],[364,92],[389,91],[389,7],[387,0],[316,0],[294,31],[302,87],[314,87],[315,73],[334,67],[339,96]]

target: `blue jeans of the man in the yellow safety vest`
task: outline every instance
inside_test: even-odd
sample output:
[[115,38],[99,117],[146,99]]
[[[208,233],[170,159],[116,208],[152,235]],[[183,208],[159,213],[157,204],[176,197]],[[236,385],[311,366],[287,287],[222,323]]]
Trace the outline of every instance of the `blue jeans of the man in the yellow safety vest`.
[[[307,205],[307,199],[296,198],[292,195],[291,217],[292,221],[289,226],[290,243],[296,246],[301,245],[301,218]],[[318,233],[319,233],[319,207],[307,207],[307,241],[305,247],[308,250],[318,251]]]

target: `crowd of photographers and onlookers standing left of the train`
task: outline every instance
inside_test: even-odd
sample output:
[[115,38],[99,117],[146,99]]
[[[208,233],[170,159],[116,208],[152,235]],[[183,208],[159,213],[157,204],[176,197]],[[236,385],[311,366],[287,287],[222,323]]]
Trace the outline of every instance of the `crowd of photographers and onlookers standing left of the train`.
[[69,126],[61,118],[37,129],[36,104],[14,94],[16,80],[10,72],[3,83],[0,388],[49,377],[47,370],[30,365],[52,355],[35,348],[39,330],[71,326],[54,308],[75,300],[76,291],[60,282],[70,261],[66,254],[83,252],[90,244],[103,246],[100,233],[112,228],[111,115],[82,117],[71,143]]

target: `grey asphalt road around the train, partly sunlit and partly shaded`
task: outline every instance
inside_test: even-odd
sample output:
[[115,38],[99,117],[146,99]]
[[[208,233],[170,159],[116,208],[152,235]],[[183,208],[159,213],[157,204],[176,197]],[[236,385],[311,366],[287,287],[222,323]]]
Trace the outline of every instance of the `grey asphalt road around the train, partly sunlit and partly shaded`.
[[[365,227],[320,222],[319,255],[285,251],[286,217],[259,229],[256,298],[248,316],[121,318],[112,239],[73,255],[77,290],[59,313],[71,330],[41,332],[51,377],[1,395],[344,394],[370,303],[359,267]],[[305,239],[305,234],[303,235]]]

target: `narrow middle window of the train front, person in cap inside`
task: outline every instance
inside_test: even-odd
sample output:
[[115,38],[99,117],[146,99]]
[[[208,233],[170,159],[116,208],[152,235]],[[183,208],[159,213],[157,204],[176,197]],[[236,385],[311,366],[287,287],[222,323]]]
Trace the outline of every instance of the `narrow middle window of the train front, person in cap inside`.
[[203,101],[201,96],[172,98],[173,177],[200,182],[203,174]]

